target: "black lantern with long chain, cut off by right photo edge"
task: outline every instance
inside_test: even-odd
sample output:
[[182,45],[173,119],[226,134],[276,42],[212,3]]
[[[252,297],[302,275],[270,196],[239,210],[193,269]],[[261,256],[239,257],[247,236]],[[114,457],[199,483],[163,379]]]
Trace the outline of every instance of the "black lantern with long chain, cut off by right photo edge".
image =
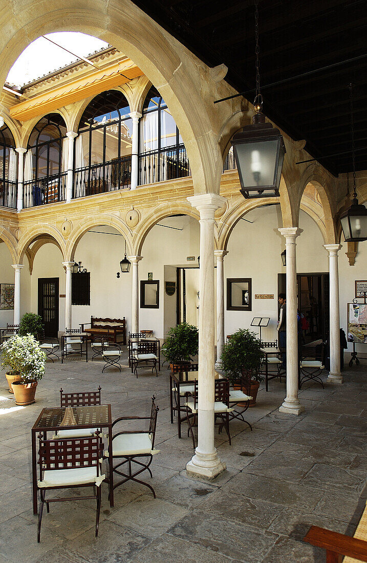
[[353,100],[352,84],[350,89],[350,108],[351,108],[351,136],[352,136],[352,162],[353,162],[353,199],[351,207],[341,217],[344,239],[348,242],[363,242],[367,240],[367,209],[360,205],[356,192],[356,158],[354,142],[354,123],[353,123]]

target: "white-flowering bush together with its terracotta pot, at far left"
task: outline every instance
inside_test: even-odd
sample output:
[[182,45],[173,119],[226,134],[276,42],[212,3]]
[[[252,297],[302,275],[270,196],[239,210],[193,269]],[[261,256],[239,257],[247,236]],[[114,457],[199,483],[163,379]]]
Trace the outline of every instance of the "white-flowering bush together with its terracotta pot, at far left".
[[39,347],[39,343],[32,336],[12,336],[2,345],[2,366],[10,367],[8,376],[17,378],[12,381],[17,405],[34,403],[37,382],[44,376],[46,354]]

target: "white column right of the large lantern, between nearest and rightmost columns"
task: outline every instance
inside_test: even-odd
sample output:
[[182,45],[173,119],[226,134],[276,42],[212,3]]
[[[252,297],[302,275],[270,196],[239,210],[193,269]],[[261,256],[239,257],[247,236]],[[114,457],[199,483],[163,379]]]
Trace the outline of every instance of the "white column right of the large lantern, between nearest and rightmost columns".
[[285,236],[287,251],[287,397],[280,413],[301,414],[305,407],[298,399],[297,267],[296,238],[303,232],[297,227],[278,229]]

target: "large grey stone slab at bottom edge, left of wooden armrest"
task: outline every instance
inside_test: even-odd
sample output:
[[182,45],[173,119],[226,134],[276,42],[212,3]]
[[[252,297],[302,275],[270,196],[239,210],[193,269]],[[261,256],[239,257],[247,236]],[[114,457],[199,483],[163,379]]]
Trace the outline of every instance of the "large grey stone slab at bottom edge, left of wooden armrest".
[[169,530],[169,534],[209,547],[220,556],[239,561],[262,560],[274,546],[278,535],[268,531],[222,520],[216,513],[195,510]]

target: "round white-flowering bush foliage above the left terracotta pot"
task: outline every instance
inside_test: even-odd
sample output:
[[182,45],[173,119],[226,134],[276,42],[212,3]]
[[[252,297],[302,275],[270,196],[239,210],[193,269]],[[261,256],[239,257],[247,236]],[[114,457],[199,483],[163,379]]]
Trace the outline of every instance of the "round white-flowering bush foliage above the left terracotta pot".
[[38,381],[44,376],[46,354],[32,334],[16,334],[1,347],[1,365],[10,367],[11,376],[20,376],[20,383]]

